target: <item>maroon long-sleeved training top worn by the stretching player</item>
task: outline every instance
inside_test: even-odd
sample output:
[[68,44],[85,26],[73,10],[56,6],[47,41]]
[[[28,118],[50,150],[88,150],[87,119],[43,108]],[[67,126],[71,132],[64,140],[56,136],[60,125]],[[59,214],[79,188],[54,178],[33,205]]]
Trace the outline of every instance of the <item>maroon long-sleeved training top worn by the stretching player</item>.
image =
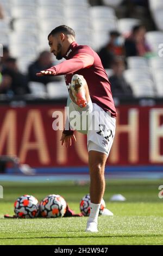
[[112,117],[116,117],[110,82],[98,54],[91,47],[78,45],[74,41],[64,58],[66,59],[64,62],[47,70],[54,72],[55,75],[65,75],[68,88],[74,74],[84,76],[92,102],[102,107],[104,111],[110,111]]

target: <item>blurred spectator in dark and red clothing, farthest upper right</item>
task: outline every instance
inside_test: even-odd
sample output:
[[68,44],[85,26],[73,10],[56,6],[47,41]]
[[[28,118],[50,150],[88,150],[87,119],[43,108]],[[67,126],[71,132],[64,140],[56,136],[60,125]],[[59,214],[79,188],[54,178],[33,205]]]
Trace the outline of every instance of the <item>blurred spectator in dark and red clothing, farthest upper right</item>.
[[145,40],[146,28],[143,25],[136,25],[129,38],[124,42],[126,57],[142,56],[146,57],[151,53],[150,47]]

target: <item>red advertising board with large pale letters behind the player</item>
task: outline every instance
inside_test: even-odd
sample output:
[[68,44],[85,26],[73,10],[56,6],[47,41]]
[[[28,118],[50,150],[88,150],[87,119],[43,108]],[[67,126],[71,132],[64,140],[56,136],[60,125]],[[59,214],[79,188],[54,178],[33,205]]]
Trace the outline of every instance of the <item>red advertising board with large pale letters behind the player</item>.
[[[86,135],[76,132],[77,143],[61,146],[62,131],[54,131],[59,105],[1,106],[0,155],[20,157],[32,167],[86,166]],[[108,163],[112,166],[163,164],[163,105],[117,108],[115,141]]]

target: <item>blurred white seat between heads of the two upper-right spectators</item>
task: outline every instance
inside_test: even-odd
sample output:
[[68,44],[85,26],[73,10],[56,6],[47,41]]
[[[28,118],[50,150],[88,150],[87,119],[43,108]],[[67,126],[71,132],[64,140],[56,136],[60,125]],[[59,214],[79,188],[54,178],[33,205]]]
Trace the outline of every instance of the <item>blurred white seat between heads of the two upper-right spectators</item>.
[[124,18],[118,20],[118,30],[123,35],[128,35],[131,33],[132,28],[135,25],[138,25],[140,23],[140,20],[138,19],[132,19],[132,18]]

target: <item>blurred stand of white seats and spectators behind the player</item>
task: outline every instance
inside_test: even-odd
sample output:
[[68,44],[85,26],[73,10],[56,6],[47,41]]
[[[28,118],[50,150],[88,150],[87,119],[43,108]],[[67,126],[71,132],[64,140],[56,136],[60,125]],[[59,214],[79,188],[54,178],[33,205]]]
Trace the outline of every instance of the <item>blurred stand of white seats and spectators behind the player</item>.
[[114,97],[163,96],[162,0],[0,0],[0,100],[67,96],[64,77],[35,75],[59,63],[47,41],[59,25],[98,52]]

